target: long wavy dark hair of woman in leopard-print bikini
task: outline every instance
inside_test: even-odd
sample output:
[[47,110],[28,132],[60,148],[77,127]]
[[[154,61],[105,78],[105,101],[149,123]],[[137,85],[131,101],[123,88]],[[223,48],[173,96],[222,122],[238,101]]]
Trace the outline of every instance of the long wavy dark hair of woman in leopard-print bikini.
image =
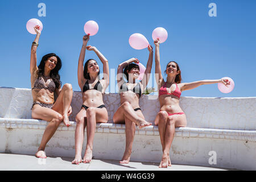
[[59,70],[62,66],[61,59],[59,56],[57,56],[55,53],[48,53],[47,55],[44,55],[42,57],[42,60],[38,66],[38,78],[44,76],[44,65],[46,65],[46,61],[49,59],[49,57],[55,56],[57,58],[57,64],[54,69],[50,72],[50,77],[55,83],[56,88],[60,88],[61,81],[60,81],[60,75]]

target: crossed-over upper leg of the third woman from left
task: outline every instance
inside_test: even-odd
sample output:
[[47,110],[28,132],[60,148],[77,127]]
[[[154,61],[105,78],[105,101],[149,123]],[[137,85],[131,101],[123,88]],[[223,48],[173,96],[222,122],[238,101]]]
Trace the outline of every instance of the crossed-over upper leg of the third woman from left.
[[123,102],[123,104],[119,106],[117,111],[115,111],[113,121],[114,123],[123,122],[124,117],[130,119],[130,121],[134,122],[139,128],[152,125],[150,122],[138,117],[129,102]]

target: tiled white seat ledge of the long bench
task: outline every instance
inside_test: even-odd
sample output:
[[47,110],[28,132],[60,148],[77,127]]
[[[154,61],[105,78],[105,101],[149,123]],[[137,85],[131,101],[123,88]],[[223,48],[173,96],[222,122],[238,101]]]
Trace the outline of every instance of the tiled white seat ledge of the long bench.
[[[0,127],[8,130],[12,129],[34,129],[45,130],[47,121],[40,119],[16,119],[0,118]],[[57,131],[75,131],[76,122],[71,121],[71,126],[67,127],[61,123]],[[96,133],[125,134],[125,125],[114,123],[97,123]],[[137,127],[137,135],[156,135],[159,136],[158,126],[147,126],[142,129]],[[191,127],[176,127],[176,137],[192,138],[213,138],[213,139],[233,139],[256,142],[256,131],[251,130],[225,130],[225,129],[202,129]]]

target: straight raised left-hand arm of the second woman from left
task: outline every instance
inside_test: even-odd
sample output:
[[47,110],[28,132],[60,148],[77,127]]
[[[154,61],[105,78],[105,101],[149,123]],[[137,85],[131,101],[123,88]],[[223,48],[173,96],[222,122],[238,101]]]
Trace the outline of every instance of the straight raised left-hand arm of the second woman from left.
[[82,84],[85,82],[84,78],[84,57],[85,57],[85,51],[86,51],[86,45],[90,39],[89,35],[85,35],[82,38],[82,48],[79,56],[79,64],[77,68],[77,80],[79,83],[80,88],[82,89]]

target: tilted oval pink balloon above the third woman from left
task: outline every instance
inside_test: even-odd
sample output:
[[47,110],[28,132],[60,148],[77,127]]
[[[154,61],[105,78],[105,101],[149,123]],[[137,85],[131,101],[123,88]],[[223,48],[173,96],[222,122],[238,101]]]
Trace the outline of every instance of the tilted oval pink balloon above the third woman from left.
[[129,44],[134,49],[144,49],[149,46],[147,39],[144,35],[136,33],[130,36]]

